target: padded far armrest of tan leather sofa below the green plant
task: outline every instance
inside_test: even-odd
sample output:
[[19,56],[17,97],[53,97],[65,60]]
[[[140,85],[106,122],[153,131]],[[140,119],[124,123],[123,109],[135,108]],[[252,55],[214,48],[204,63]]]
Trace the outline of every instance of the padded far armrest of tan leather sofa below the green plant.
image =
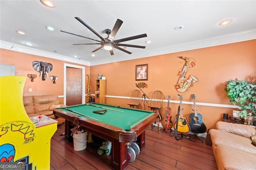
[[246,138],[250,138],[250,136],[255,134],[255,127],[243,125],[243,124],[227,123],[227,122],[219,121],[216,123],[216,128],[219,130],[237,134]]

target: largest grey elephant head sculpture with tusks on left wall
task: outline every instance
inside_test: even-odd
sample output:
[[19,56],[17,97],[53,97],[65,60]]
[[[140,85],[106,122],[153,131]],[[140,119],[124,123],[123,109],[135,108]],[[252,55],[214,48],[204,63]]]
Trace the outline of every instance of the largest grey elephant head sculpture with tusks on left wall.
[[40,73],[40,77],[42,77],[42,80],[45,80],[45,75],[47,78],[49,78],[47,73],[52,71],[51,63],[46,63],[43,61],[33,61],[32,65],[34,69]]

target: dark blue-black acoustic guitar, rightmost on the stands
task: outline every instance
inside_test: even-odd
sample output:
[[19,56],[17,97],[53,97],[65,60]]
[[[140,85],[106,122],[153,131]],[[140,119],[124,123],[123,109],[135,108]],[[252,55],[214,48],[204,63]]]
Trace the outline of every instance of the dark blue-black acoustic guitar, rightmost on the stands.
[[197,113],[196,110],[196,95],[191,95],[194,102],[194,113],[190,114],[190,131],[193,133],[204,133],[206,132],[206,126],[203,123],[203,116]]

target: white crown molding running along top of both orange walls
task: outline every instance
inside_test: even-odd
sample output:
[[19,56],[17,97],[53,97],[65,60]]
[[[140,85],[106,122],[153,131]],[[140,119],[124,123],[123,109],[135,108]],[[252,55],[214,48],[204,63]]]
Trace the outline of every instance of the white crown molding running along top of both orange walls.
[[164,55],[164,54],[168,54],[168,53],[176,53],[176,52],[187,51],[187,50],[192,50],[192,49],[212,47],[212,46],[216,46],[216,45],[224,45],[224,44],[228,44],[228,43],[243,42],[243,41],[254,40],[254,39],[256,39],[256,29],[246,30],[246,31],[242,31],[242,32],[236,32],[236,33],[232,33],[232,34],[226,34],[223,36],[216,36],[216,37],[207,38],[207,39],[203,39],[203,40],[197,40],[197,41],[193,41],[193,42],[170,45],[170,46],[161,47],[158,49],[140,51],[138,53],[133,53],[132,56],[124,57],[119,60],[114,57],[111,57],[111,58],[108,58],[105,60],[92,61],[92,62],[79,60],[79,59],[72,59],[72,58],[64,56],[64,55],[50,53],[47,51],[42,51],[42,50],[34,49],[31,47],[26,47],[26,46],[14,44],[14,43],[8,43],[8,42],[4,42],[4,41],[0,41],[0,48],[12,50],[12,51],[23,52],[23,53],[28,53],[28,54],[33,54],[33,55],[39,55],[42,57],[48,57],[48,58],[52,58],[52,59],[58,59],[58,60],[67,61],[67,62],[71,62],[71,63],[93,66],[93,65],[100,65],[100,64],[106,64],[106,63],[114,63],[114,62],[118,62],[118,61],[126,61],[126,60],[131,60],[131,59],[152,57],[152,56],[156,56],[156,55]]

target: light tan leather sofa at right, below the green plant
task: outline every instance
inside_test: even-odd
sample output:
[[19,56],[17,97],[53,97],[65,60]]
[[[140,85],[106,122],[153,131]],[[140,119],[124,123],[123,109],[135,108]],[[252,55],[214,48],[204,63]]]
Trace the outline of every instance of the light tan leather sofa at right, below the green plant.
[[256,147],[250,143],[256,127],[219,121],[208,133],[219,170],[256,170]]

